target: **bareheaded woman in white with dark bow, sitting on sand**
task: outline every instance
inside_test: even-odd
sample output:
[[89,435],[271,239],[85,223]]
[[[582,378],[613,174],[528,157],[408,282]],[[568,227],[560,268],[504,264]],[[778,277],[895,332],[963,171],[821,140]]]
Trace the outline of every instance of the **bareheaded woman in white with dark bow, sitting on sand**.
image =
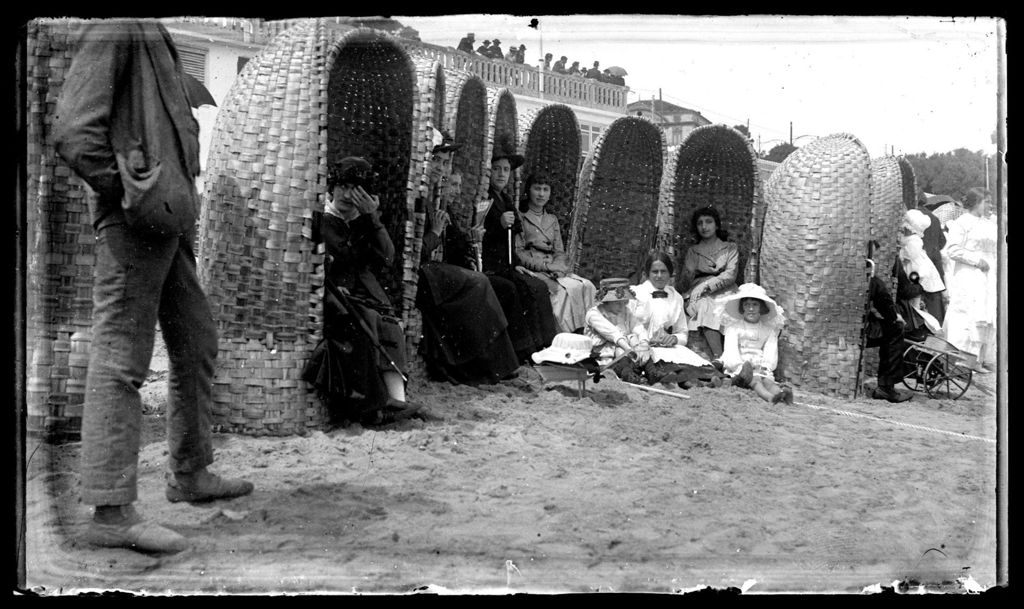
[[684,383],[684,386],[686,382],[695,380],[711,382],[719,377],[717,371],[710,361],[686,346],[689,335],[686,303],[671,285],[674,275],[672,257],[655,251],[644,260],[641,276],[645,280],[632,287],[640,310],[646,311],[644,325],[654,361],[653,374],[648,374],[647,380],[651,383],[664,382],[668,375],[674,375],[673,380]]

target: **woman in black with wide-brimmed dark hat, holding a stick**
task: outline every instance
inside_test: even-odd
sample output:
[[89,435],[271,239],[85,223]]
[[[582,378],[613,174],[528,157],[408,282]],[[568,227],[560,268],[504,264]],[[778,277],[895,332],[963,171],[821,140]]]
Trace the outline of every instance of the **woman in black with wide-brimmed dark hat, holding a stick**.
[[512,172],[523,163],[508,137],[495,142],[490,158],[490,184],[487,197],[490,208],[483,220],[483,272],[508,318],[509,337],[520,361],[551,344],[557,330],[551,310],[548,287],[544,281],[516,269],[519,260],[513,251],[515,235],[522,232],[515,202],[506,191]]

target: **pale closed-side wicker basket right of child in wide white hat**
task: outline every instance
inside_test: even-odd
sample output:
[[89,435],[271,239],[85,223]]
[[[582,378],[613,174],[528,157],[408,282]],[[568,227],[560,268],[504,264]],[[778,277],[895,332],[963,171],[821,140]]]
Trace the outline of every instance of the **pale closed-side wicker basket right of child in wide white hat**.
[[797,386],[853,394],[870,189],[870,158],[848,134],[797,149],[765,189],[761,281],[786,312],[779,366]]

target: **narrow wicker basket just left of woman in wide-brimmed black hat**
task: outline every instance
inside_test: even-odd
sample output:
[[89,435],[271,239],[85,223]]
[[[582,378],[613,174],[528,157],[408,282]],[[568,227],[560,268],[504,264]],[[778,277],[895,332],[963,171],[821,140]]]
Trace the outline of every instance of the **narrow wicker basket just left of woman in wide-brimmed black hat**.
[[489,175],[487,148],[487,87],[479,77],[465,71],[446,71],[449,132],[462,147],[452,156],[452,171],[462,173],[462,198],[453,213],[463,226],[472,223],[474,203],[487,193]]

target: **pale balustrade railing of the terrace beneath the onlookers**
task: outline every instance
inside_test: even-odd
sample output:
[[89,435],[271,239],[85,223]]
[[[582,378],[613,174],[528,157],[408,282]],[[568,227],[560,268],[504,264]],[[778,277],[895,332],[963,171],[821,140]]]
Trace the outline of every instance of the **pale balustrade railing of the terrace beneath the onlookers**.
[[[242,17],[181,17],[180,23],[207,28],[217,28],[230,32],[242,42],[266,44],[274,36],[295,24],[297,19],[276,19],[266,21]],[[341,18],[329,18],[330,24],[339,28],[351,27]],[[541,70],[523,63],[513,63],[505,59],[489,59],[477,54],[464,53],[451,47],[398,38],[406,51],[413,55],[433,57],[444,68],[466,70],[480,77],[484,83],[507,87],[513,93],[529,97],[540,97],[550,101],[571,103],[616,114],[627,114],[627,92],[629,87],[602,83],[580,76],[567,76]],[[543,92],[542,92],[543,88]]]

